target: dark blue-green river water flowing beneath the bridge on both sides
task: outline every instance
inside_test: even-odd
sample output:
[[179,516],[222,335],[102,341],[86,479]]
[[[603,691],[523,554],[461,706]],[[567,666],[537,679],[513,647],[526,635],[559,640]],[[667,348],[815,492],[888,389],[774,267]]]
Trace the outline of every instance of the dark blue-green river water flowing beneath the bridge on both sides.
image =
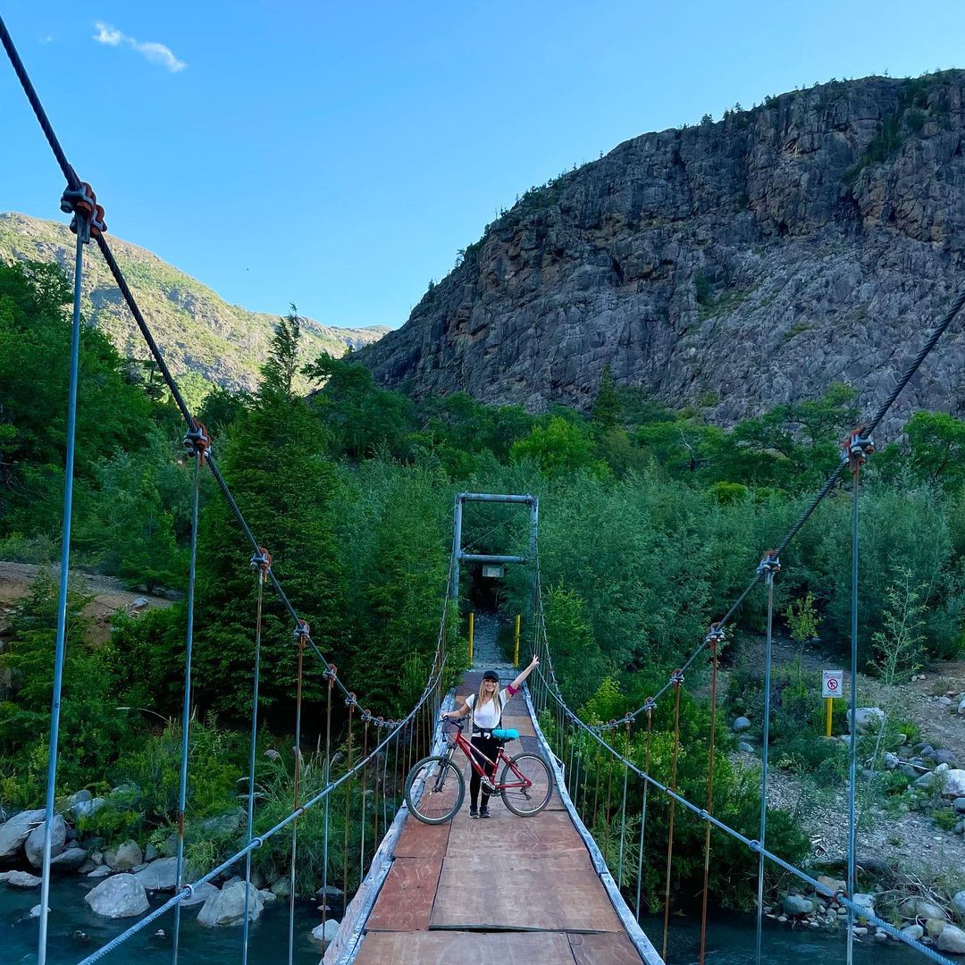
[[[119,935],[129,923],[98,918],[84,903],[88,886],[82,878],[55,879],[51,886],[51,914],[47,961],[67,965],[96,951]],[[0,963],[29,965],[37,961],[36,920],[26,918],[40,900],[40,890],[21,891],[0,887]],[[152,907],[161,902],[155,901]],[[196,924],[200,906],[185,909],[181,917],[180,962],[182,965],[236,965],[240,961],[240,928],[203,928]],[[321,916],[311,902],[299,902],[295,918],[295,956],[298,965],[317,965],[321,949],[310,937]],[[173,915],[168,913],[143,932],[129,939],[118,951],[105,956],[107,963],[169,965]],[[644,929],[660,950],[662,919],[646,919]],[[155,936],[163,928],[165,935]],[[287,958],[288,903],[269,905],[252,925],[249,961],[275,965]],[[716,918],[708,925],[708,965],[756,965],[753,918]],[[699,960],[700,927],[693,921],[672,920],[668,965],[693,965]],[[472,955],[469,955],[472,958]],[[788,928],[766,923],[762,962],[765,965],[833,965],[845,960],[843,934],[816,928]],[[855,965],[922,965],[923,955],[894,942],[879,944],[870,939],[855,944]],[[412,965],[420,965],[413,962]]]

